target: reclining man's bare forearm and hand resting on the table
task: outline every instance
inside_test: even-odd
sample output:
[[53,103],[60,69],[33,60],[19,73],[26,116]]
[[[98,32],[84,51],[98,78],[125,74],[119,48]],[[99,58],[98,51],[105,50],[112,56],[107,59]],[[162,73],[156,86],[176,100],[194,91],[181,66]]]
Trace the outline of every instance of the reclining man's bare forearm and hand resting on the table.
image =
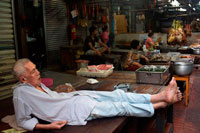
[[67,124],[67,121],[55,121],[51,124],[36,124],[35,129],[46,129],[46,130],[52,130],[52,129],[61,129],[63,126]]

